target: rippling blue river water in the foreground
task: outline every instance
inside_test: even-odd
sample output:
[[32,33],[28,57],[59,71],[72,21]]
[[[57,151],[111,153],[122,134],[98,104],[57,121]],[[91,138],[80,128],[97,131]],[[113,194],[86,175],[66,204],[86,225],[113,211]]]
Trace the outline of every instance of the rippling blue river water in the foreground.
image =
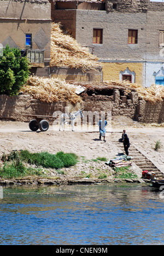
[[163,213],[141,184],[5,187],[0,245],[164,245]]

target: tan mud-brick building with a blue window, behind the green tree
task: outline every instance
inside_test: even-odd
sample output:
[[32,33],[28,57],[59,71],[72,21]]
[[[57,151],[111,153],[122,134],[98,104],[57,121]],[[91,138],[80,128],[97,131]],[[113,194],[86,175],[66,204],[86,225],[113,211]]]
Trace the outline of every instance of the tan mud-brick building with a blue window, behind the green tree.
[[51,4],[48,0],[0,0],[0,43],[21,49],[31,73],[48,74]]

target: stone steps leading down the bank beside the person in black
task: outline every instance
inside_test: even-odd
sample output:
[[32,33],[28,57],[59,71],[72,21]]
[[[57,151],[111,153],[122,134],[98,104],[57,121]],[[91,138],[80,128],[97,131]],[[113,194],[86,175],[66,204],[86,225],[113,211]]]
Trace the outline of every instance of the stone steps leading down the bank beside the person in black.
[[[124,152],[123,143],[118,142],[118,147]],[[141,171],[154,172],[156,178],[164,178],[164,174],[157,168],[153,162],[151,162],[146,156],[144,156],[133,145],[129,148],[129,156],[132,156],[133,162],[140,168]]]

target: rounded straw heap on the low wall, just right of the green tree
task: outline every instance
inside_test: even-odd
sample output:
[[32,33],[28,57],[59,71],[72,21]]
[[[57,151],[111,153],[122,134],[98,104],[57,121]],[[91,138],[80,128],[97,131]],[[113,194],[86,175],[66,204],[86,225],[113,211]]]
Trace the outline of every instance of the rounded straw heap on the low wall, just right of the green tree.
[[81,102],[80,96],[75,94],[75,89],[71,88],[65,80],[57,78],[31,76],[21,91],[45,102],[66,101],[72,104]]

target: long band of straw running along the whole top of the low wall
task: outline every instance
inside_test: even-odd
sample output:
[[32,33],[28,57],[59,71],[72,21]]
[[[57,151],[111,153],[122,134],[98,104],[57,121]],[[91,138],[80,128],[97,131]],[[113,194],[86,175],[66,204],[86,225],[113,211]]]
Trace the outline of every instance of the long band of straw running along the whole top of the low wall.
[[113,89],[119,89],[124,91],[125,95],[131,91],[138,92],[140,100],[156,103],[157,101],[164,100],[164,86],[152,85],[149,88],[144,88],[139,84],[127,83],[126,81],[111,80],[107,82],[77,82],[69,81],[57,78],[43,78],[43,77],[30,77],[27,81],[27,85],[21,89],[23,92],[27,92],[34,98],[46,101],[67,101],[72,104],[81,102],[81,97],[75,93],[75,88],[72,85],[81,85],[86,88],[87,92],[94,92],[101,94],[101,91],[105,91],[106,95]]

